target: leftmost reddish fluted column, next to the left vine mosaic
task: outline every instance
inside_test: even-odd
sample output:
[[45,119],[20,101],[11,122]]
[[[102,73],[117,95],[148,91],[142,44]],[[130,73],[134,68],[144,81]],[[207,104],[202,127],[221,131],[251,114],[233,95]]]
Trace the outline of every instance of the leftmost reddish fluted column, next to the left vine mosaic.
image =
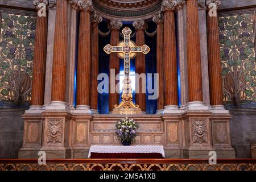
[[[40,11],[42,3],[46,7],[48,1],[36,0],[34,5]],[[39,12],[40,13],[40,12]],[[34,67],[32,79],[31,105],[42,106],[44,104],[44,80],[46,78],[46,50],[47,50],[47,14],[36,17],[36,37],[34,52]]]

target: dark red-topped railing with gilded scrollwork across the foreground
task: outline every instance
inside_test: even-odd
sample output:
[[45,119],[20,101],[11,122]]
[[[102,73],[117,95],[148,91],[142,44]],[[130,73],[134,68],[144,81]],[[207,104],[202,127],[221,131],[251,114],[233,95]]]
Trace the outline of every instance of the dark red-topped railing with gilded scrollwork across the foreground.
[[0,171],[256,171],[256,159],[0,159]]

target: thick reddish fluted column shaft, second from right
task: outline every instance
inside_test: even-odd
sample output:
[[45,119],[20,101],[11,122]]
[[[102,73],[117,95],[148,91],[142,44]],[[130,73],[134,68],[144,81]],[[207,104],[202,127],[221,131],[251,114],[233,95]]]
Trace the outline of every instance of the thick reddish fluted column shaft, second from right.
[[197,0],[187,0],[187,61],[189,102],[203,102]]

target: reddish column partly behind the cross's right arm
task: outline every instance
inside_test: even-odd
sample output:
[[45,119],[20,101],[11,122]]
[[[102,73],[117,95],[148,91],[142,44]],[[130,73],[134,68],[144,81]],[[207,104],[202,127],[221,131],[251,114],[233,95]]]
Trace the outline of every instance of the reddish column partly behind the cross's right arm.
[[[147,24],[144,20],[135,20],[133,26],[136,29],[136,46],[143,46]],[[135,101],[142,111],[146,111],[146,57],[143,53],[137,53],[135,59],[135,71],[139,75],[136,79]]]

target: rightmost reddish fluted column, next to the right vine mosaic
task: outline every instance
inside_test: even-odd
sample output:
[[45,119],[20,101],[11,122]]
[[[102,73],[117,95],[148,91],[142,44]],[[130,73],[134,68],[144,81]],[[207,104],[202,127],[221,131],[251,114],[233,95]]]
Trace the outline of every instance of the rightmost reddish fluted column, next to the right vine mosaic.
[[208,39],[208,67],[210,85],[210,104],[223,105],[220,42],[218,35],[217,7],[220,1],[207,1],[209,12],[207,14],[207,39]]

